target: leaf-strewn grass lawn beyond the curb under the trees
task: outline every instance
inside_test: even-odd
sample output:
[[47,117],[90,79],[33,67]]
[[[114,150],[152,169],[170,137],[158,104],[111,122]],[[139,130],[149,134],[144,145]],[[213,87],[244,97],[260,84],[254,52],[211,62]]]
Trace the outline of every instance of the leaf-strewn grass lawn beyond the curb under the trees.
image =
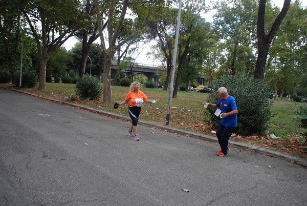
[[[112,102],[109,105],[103,105],[101,99],[93,101],[83,101],[81,99],[71,100],[70,96],[75,94],[74,84],[47,83],[46,91],[38,91],[37,88],[22,90],[45,97],[86,105],[102,111],[129,116],[127,112],[128,105],[121,106],[118,109],[113,108],[114,102],[124,100],[129,91],[128,87],[112,87]],[[147,95],[148,99],[153,99],[154,97],[160,99],[156,104],[145,103],[143,105],[141,119],[165,125],[169,91],[145,87],[142,87],[141,91]],[[178,91],[177,98],[171,101],[172,108],[170,111],[169,126],[199,133],[209,133],[212,129],[215,130],[205,123],[205,109],[202,106],[202,102],[207,101],[207,98],[208,94],[206,93]],[[273,148],[278,151],[286,151],[307,158],[306,151],[299,149],[299,146],[302,145],[301,141],[305,141],[306,137],[301,136],[303,129],[299,127],[299,122],[293,118],[295,115],[294,109],[297,107],[296,104],[306,103],[287,101],[286,98],[273,101],[272,113],[274,117],[271,119],[268,129],[270,134],[281,137],[280,140],[272,140],[267,136],[233,138],[233,140]]]

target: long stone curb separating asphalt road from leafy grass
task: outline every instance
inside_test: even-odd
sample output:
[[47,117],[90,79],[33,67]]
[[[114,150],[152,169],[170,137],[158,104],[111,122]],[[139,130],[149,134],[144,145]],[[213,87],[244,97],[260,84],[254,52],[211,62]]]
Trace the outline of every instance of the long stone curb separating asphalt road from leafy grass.
[[[102,115],[105,115],[105,116],[112,116],[112,117],[115,117],[115,118],[118,118],[118,119],[123,119],[123,120],[128,120],[128,121],[130,120],[130,118],[127,117],[127,116],[118,115],[118,114],[115,114],[115,113],[112,113],[112,112],[100,111],[100,110],[97,110],[97,109],[94,109],[94,108],[73,104],[71,102],[62,101],[62,100],[58,100],[58,99],[52,99],[52,98],[48,98],[48,97],[43,97],[43,96],[39,96],[39,95],[32,94],[32,93],[29,93],[29,92],[11,89],[11,88],[7,88],[7,87],[1,87],[0,86],[0,88],[19,92],[19,93],[28,94],[28,95],[31,95],[31,96],[35,96],[35,97],[38,97],[38,98],[42,98],[42,99],[46,99],[46,100],[50,100],[50,101],[54,101],[54,102],[58,102],[59,104],[63,104],[63,105],[69,105],[69,106],[73,106],[73,107],[76,107],[76,108],[82,108],[84,110],[91,111],[91,112],[98,113],[98,114],[102,114]],[[184,136],[187,136],[187,137],[203,139],[203,140],[211,141],[211,142],[218,142],[215,136],[200,134],[200,133],[196,133],[196,132],[189,132],[189,131],[182,130],[182,129],[179,129],[179,128],[172,128],[172,127],[169,127],[169,126],[159,125],[158,123],[153,123],[153,122],[144,121],[144,120],[139,120],[139,123],[142,124],[143,126],[157,128],[157,129],[161,129],[161,130],[168,131],[168,132],[178,133],[178,134],[181,134],[181,135],[184,135]],[[277,151],[269,150],[269,149],[266,149],[266,148],[261,148],[261,147],[258,147],[258,146],[248,145],[246,143],[236,142],[236,141],[231,141],[231,140],[229,141],[229,146],[237,148],[237,149],[252,151],[252,152],[259,153],[259,154],[266,155],[266,156],[284,159],[284,160],[290,161],[292,163],[298,164],[299,166],[302,166],[304,168],[307,168],[307,160],[305,160],[303,158],[299,158],[299,157],[283,154],[283,153],[280,153],[280,152],[277,152]]]

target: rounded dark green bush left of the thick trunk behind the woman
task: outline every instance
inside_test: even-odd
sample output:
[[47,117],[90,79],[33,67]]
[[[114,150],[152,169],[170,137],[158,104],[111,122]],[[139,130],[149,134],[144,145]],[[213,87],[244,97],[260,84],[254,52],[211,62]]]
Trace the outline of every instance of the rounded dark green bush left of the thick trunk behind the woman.
[[95,76],[88,74],[80,78],[76,83],[76,93],[82,99],[95,100],[100,98],[102,92],[102,86],[100,81]]

